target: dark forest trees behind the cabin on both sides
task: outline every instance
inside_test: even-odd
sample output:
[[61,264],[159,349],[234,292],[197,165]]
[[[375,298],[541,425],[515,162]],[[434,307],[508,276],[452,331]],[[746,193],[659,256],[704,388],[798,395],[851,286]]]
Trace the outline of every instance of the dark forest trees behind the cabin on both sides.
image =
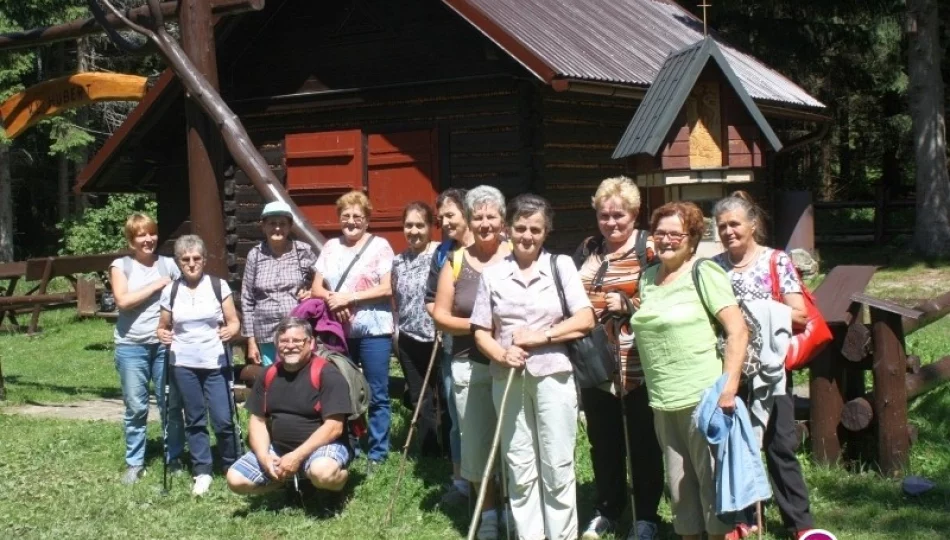
[[[810,189],[818,200],[873,200],[880,184],[890,198],[913,197],[916,166],[907,13],[919,3],[732,0],[714,3],[708,10],[709,25],[719,37],[828,106],[827,136],[773,164],[770,173],[783,187]],[[701,8],[681,5],[701,15]],[[0,0],[0,33],[88,15],[84,0]],[[944,8],[938,17],[937,46],[942,52],[938,80],[946,81],[950,9]],[[105,36],[0,52],[0,100],[41,81],[81,71],[156,78],[162,69],[158,56],[123,53]],[[941,94],[950,104],[950,96],[942,90]],[[109,251],[121,247],[121,234],[110,230],[117,217],[124,218],[133,209],[154,211],[147,195],[77,195],[73,190],[78,172],[134,105],[100,103],[44,120],[15,141],[0,135],[0,262]],[[778,123],[776,128],[784,140],[806,135],[809,129],[801,123]],[[913,225],[913,212],[908,209],[898,219]],[[4,219],[12,227],[5,227]]]

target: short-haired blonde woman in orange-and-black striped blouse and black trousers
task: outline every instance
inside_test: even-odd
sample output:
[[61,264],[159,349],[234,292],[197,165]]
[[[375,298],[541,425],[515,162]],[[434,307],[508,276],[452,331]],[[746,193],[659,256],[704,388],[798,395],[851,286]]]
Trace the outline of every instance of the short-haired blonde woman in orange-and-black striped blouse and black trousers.
[[[574,263],[597,317],[611,313],[629,321],[630,308],[623,296],[635,297],[640,270],[654,259],[652,239],[636,228],[640,192],[629,178],[608,178],[594,193],[593,207],[600,235],[578,247]],[[611,338],[620,343],[619,379],[581,390],[597,487],[595,515],[583,538],[597,540],[616,527],[630,489],[624,471],[624,459],[628,458],[637,521],[626,538],[651,540],[656,538],[657,507],[663,495],[663,454],[653,429],[643,368],[629,324],[623,325],[619,336]],[[631,456],[626,456],[623,438],[617,436],[623,433],[621,402],[626,409]]]

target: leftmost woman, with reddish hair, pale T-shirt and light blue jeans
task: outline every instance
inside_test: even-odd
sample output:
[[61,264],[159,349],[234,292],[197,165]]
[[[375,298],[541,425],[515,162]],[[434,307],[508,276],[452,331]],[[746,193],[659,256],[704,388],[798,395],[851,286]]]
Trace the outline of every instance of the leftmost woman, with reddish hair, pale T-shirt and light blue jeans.
[[[158,408],[164,412],[165,347],[155,336],[158,328],[159,297],[162,289],[180,272],[169,257],[161,257],[158,225],[144,214],[132,214],[125,222],[125,239],[132,255],[120,257],[109,266],[109,282],[119,308],[115,325],[115,367],[125,402],[125,463],[123,484],[133,484],[145,474],[145,426],[148,421],[149,382]],[[181,400],[172,385],[168,418],[168,453],[164,459],[173,469],[184,449],[185,432]]]

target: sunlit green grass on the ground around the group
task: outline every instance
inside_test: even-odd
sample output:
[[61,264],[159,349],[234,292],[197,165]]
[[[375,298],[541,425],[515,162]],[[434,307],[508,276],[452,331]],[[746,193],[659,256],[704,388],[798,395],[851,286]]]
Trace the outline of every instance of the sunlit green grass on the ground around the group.
[[[35,338],[0,334],[0,355],[12,405],[61,403],[118,395],[112,363],[112,326],[77,321],[74,310],[44,312],[43,332]],[[911,353],[924,362],[950,354],[950,317],[908,337]],[[82,422],[0,414],[0,531],[3,538],[458,538],[466,530],[466,509],[437,506],[448,479],[444,461],[410,461],[391,528],[383,517],[398,470],[409,411],[393,406],[392,458],[373,478],[353,467],[348,502],[334,517],[313,506],[287,504],[283,493],[242,498],[228,493],[216,478],[203,499],[189,495],[190,479],[174,479],[172,493],[160,494],[158,425],[150,425],[150,474],[133,487],[117,480],[123,466],[119,423]],[[810,464],[802,454],[817,522],[838,538],[939,539],[950,531],[950,386],[935,390],[911,406],[919,427],[910,472],[937,482],[919,497],[902,494],[896,480],[870,471],[847,472]],[[578,500],[581,520],[590,516],[594,495],[586,435],[577,445]],[[663,503],[661,513],[669,520]],[[778,511],[766,515],[769,534],[782,538]],[[674,538],[664,526],[662,538]]]

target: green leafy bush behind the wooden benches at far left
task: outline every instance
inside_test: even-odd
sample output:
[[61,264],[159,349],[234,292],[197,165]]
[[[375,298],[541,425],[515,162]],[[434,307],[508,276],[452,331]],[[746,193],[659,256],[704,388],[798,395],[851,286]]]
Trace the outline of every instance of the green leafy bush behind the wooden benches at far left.
[[125,220],[135,212],[154,219],[158,205],[149,195],[115,194],[102,208],[90,208],[81,216],[56,225],[63,233],[60,255],[92,255],[128,249]]

